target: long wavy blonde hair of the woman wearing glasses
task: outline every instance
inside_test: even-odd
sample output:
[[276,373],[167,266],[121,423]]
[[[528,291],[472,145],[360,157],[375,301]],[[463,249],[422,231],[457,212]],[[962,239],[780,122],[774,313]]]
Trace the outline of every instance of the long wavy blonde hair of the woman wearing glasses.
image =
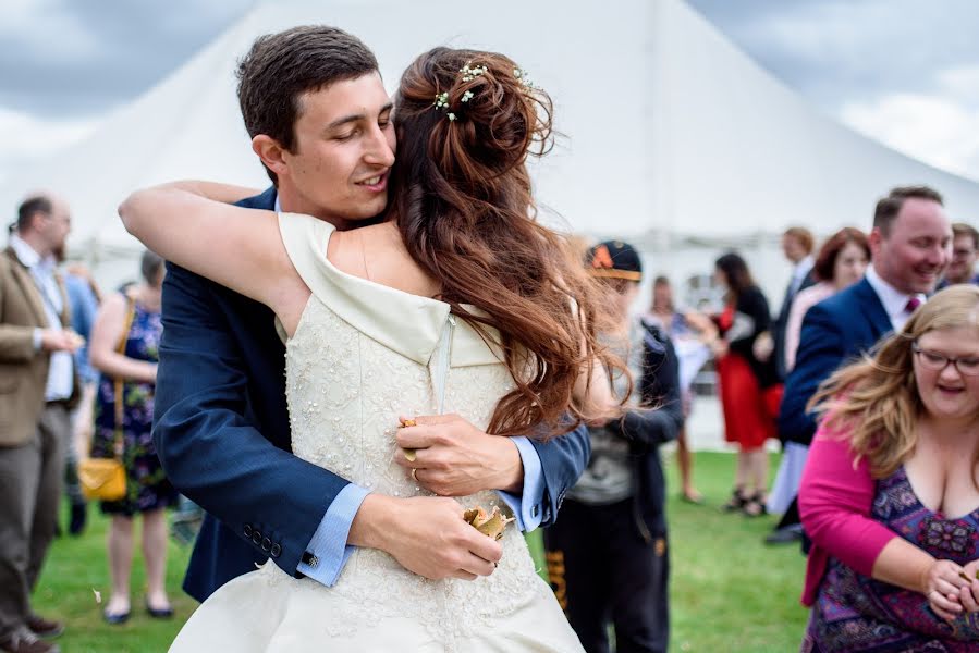
[[872,356],[837,370],[809,402],[808,409],[823,414],[830,430],[849,430],[856,460],[866,456],[874,478],[893,473],[918,442],[925,405],[915,380],[914,343],[929,331],[960,326],[979,328],[979,287],[971,284],[935,294],[901,332],[883,341]]

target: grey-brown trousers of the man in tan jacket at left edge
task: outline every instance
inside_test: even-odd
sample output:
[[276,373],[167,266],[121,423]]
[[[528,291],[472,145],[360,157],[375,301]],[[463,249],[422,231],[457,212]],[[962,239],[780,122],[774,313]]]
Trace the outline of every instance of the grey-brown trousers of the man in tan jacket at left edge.
[[70,433],[68,409],[49,404],[34,438],[0,447],[0,639],[30,615],[30,592],[54,537]]

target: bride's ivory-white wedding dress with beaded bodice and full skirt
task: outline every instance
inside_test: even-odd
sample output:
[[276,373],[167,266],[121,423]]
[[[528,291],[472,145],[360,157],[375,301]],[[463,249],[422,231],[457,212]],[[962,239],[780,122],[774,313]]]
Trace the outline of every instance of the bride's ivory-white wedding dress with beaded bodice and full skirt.
[[[428,494],[393,463],[399,416],[441,408],[486,428],[513,387],[506,367],[446,304],[334,268],[329,223],[282,214],[279,225],[313,292],[286,343],[293,452],[372,492]],[[460,502],[511,514],[494,492]],[[583,651],[523,535],[510,526],[501,543],[497,570],[475,581],[429,580],[372,549],[357,549],[333,587],[269,562],[205,601],[171,651]]]

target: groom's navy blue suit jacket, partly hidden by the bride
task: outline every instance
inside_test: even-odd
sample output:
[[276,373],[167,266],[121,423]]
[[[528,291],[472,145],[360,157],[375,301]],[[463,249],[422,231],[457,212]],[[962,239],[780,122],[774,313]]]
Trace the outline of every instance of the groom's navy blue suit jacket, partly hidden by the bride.
[[[240,202],[274,209],[276,193]],[[178,266],[163,282],[154,442],[169,479],[208,513],[184,590],[204,601],[271,558],[296,575],[305,547],[347,481],[291,453],[285,349],[266,306]],[[584,427],[531,440],[551,523],[590,455]]]

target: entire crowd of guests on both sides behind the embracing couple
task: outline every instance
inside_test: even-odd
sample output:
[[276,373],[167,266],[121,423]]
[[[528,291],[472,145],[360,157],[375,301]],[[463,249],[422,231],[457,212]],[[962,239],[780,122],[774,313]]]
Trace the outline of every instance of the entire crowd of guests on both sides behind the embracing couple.
[[[68,532],[85,529],[76,469],[88,456],[119,456],[126,473],[125,495],[100,506],[111,516],[105,619],[121,624],[132,611],[136,515],[145,607],[172,615],[164,508],[179,495],[150,435],[163,261],[147,251],[140,283],[102,294],[84,268],[58,271],[70,225],[60,199],[28,198],[0,257],[7,650],[57,650],[47,639],[62,626],[34,613],[29,596],[62,488]],[[659,447],[676,441],[682,498],[701,503],[685,421],[709,359],[724,438],[737,447],[722,509],[778,514],[766,541],[803,541],[809,553],[804,650],[956,651],[979,639],[979,233],[951,224],[934,190],[905,187],[880,200],[869,233],[848,226],[816,245],[806,229],[783,234],[792,268],[775,316],[745,258],[727,252],[714,263],[720,310],[680,308],[670,280],[658,276],[636,318],[636,249],[608,241],[588,250],[585,264],[608,294],[602,342],[633,373],[632,383],[613,384],[633,401],[622,420],[591,428],[590,463],[544,538],[552,586],[586,650],[608,650],[610,626],[619,650],[666,649]],[[769,494],[766,445],[774,439],[783,456]]]

